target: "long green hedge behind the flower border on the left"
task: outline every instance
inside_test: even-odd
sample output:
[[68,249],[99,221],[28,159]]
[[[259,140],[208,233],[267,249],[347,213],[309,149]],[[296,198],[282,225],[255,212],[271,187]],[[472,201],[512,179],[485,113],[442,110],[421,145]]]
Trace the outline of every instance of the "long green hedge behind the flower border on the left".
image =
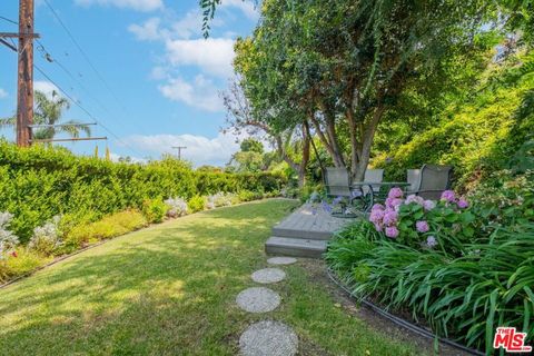
[[63,148],[17,148],[0,141],[0,211],[14,215],[11,229],[22,241],[55,215],[91,221],[146,199],[190,199],[218,191],[276,194],[286,179],[274,174],[195,171],[175,159],[117,164],[79,157]]

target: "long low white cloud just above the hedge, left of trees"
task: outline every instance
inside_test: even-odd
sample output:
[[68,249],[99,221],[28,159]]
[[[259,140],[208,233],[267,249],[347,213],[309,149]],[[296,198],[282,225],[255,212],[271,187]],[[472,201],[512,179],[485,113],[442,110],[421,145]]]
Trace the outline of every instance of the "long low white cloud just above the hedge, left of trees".
[[218,134],[215,138],[195,135],[135,135],[123,139],[128,145],[155,155],[176,154],[172,146],[186,146],[181,156],[196,166],[224,165],[239,150],[233,135]]

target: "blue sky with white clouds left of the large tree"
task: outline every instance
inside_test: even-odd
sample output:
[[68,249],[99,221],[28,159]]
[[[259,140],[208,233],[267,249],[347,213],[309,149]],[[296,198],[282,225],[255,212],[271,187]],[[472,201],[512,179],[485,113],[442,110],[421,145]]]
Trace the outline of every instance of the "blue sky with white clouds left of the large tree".
[[[41,34],[34,57],[57,85],[78,100],[102,127],[113,155],[159,158],[171,146],[187,146],[184,157],[195,165],[225,164],[237,150],[235,137],[219,132],[225,110],[218,96],[233,77],[233,44],[249,34],[258,12],[254,2],[224,0],[211,36],[201,36],[198,0],[48,0],[103,78],[99,79],[69,39],[43,0],[36,0],[36,31]],[[2,1],[0,16],[18,20],[18,1]],[[0,19],[0,31],[17,26]],[[43,53],[56,62],[48,62]],[[72,75],[61,69],[62,65]],[[0,116],[16,110],[17,55],[0,47]],[[34,72],[36,89],[55,89]],[[110,87],[111,90],[107,88]],[[65,119],[91,122],[71,106]],[[0,135],[13,139],[11,129]],[[96,142],[67,144],[91,155]],[[103,151],[106,144],[98,144]]]

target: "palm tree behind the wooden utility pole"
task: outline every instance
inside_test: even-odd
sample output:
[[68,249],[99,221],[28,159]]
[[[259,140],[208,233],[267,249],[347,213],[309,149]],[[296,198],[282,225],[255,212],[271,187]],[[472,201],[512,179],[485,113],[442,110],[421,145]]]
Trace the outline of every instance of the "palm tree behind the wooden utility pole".
[[[87,125],[81,125],[76,120],[68,120],[60,122],[63,110],[70,108],[69,101],[59,96],[56,90],[49,99],[43,92],[36,90],[34,92],[36,109],[33,112],[34,125],[67,125],[67,126],[50,126],[41,127],[33,130],[33,138],[36,140],[53,139],[58,134],[67,134],[72,138],[80,137],[80,132],[85,132],[88,137],[91,136],[91,129]],[[17,123],[17,117],[0,119],[0,128]]]

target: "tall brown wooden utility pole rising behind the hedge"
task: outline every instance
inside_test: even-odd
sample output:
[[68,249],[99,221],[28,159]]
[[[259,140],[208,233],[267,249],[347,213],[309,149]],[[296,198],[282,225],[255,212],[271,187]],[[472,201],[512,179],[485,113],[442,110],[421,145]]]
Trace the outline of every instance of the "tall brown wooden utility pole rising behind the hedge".
[[19,1],[17,145],[29,146],[33,123],[33,0]]

